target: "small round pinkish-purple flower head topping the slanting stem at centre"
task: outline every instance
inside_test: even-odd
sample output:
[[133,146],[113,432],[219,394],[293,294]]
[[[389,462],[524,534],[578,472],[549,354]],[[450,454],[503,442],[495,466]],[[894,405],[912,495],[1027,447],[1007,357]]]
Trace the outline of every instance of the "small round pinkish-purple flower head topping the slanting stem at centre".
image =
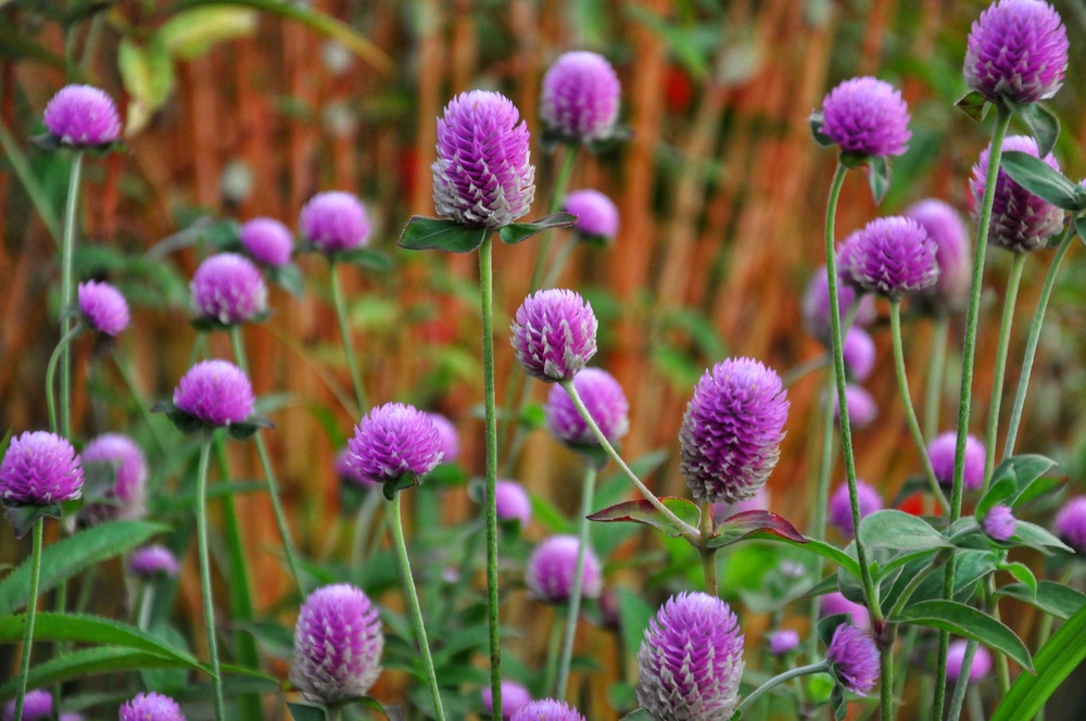
[[576,376],[596,354],[597,327],[591,303],[552,288],[520,304],[509,342],[529,376],[553,383]]

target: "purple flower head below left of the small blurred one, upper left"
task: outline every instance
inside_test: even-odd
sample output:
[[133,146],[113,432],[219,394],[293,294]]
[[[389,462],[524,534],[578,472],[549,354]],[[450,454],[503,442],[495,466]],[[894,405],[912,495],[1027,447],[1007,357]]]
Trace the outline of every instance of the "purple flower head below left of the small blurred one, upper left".
[[260,318],[268,309],[268,289],[253,262],[238,253],[204,260],[189,283],[192,309],[200,318],[233,326]]

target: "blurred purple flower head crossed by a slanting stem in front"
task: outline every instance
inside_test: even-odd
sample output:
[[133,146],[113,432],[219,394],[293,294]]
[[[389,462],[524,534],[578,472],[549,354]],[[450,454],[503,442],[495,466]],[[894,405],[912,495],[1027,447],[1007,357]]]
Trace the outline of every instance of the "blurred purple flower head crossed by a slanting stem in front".
[[[585,368],[573,376],[573,388],[604,437],[615,443],[630,430],[630,404],[615,377],[599,368]],[[546,427],[561,443],[598,445],[589,425],[561,385],[554,385],[543,406]]]

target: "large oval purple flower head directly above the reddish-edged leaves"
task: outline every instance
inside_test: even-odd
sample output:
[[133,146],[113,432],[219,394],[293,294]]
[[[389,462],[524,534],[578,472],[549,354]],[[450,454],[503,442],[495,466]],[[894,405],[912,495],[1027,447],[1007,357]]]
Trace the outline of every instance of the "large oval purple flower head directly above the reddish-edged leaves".
[[780,376],[758,360],[728,358],[706,371],[679,430],[679,472],[694,497],[752,497],[776,467],[787,418]]

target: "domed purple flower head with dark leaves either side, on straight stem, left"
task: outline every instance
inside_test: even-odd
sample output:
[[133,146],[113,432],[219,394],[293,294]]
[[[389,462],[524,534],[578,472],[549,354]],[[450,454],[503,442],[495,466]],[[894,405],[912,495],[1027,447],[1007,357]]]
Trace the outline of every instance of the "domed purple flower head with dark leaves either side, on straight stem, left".
[[240,423],[255,403],[249,377],[229,360],[198,363],[174,389],[174,405],[211,426]]

